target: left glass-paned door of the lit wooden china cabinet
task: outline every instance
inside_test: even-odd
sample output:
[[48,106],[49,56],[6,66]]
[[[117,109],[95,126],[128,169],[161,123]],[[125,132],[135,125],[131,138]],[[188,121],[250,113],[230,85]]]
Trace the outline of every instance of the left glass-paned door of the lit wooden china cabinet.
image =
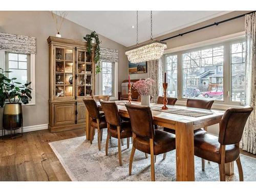
[[74,97],[74,50],[55,47],[54,97]]

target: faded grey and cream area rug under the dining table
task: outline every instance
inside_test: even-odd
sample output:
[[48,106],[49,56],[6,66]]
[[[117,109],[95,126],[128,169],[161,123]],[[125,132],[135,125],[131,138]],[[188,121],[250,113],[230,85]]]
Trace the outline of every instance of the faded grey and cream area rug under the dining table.
[[[93,144],[86,137],[60,140],[49,143],[62,166],[72,181],[151,181],[150,155],[136,150],[132,175],[129,176],[129,159],[132,149],[126,147],[126,139],[122,146],[122,166],[119,166],[117,139],[109,143],[109,155],[105,156],[106,130],[103,133],[101,151],[98,150],[97,134]],[[131,141],[131,140],[130,140]],[[245,181],[256,181],[256,158],[241,155]],[[176,181],[175,151],[167,153],[166,159],[157,156],[155,163],[156,181]],[[226,177],[229,181],[238,181],[238,169],[235,163],[234,175]],[[219,181],[217,163],[205,163],[205,171],[201,169],[201,159],[195,157],[196,181]]]

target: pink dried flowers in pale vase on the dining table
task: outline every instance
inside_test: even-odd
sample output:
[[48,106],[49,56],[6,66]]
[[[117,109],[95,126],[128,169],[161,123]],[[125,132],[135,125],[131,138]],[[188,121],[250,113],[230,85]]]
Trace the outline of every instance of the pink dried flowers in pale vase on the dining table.
[[141,105],[150,106],[150,87],[155,81],[151,78],[140,79],[133,83],[133,88],[140,94]]

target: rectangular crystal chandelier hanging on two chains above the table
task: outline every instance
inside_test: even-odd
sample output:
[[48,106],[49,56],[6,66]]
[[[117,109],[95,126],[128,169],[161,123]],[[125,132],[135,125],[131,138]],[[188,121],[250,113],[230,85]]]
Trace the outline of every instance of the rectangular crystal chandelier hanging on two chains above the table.
[[127,50],[125,55],[132,63],[144,62],[148,60],[159,59],[166,48],[166,42],[153,40],[152,35],[152,11],[151,11],[151,38],[150,42],[138,46],[138,11],[137,11],[137,44],[135,48]]

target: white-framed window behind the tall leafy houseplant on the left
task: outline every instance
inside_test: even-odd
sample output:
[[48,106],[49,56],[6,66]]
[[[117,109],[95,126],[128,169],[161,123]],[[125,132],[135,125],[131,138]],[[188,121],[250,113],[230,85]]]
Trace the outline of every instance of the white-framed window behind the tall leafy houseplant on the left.
[[30,88],[32,99],[29,104],[35,104],[35,54],[19,54],[0,50],[0,68],[6,73],[8,78],[17,78],[15,81],[25,84],[31,81]]

